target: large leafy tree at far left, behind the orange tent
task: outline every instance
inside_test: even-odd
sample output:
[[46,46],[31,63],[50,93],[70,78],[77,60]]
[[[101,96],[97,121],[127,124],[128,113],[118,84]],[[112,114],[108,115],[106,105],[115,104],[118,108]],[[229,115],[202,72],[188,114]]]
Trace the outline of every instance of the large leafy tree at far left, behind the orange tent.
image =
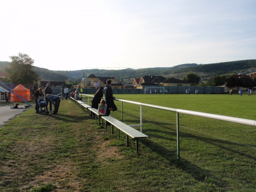
[[6,68],[12,83],[30,84],[38,81],[38,75],[33,70],[34,60],[29,55],[20,53],[18,56],[10,56],[12,62]]

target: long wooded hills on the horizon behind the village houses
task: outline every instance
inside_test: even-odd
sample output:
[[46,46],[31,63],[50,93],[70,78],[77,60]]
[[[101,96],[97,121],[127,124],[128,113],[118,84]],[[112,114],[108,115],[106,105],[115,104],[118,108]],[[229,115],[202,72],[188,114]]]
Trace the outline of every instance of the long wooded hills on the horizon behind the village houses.
[[[0,71],[5,72],[5,68],[9,66],[10,62],[0,61]],[[90,74],[95,76],[115,77],[117,80],[124,83],[132,83],[136,77],[143,77],[145,75],[160,75],[168,77],[175,77],[183,79],[189,71],[198,73],[198,75],[215,76],[223,74],[234,74],[236,72],[243,72],[250,68],[256,68],[256,59],[230,61],[213,64],[181,64],[174,67],[154,67],[143,69],[122,69],[122,70],[105,70],[105,69],[83,69],[74,71],[48,70],[41,67],[35,67],[35,72],[38,73],[42,81],[81,81],[83,74],[85,77]]]

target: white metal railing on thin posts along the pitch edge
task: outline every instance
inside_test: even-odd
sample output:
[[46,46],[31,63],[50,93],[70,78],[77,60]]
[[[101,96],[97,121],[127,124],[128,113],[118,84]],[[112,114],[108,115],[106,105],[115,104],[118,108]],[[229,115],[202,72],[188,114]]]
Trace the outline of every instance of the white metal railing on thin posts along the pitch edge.
[[[88,101],[89,101],[89,96],[88,96]],[[92,97],[92,96],[90,96]],[[182,110],[182,109],[175,109],[175,108],[168,108],[168,107],[162,107],[158,105],[150,105],[146,103],[140,103],[140,102],[133,102],[133,101],[128,101],[124,99],[115,99],[115,101],[122,102],[121,103],[121,115],[122,115],[122,121],[123,121],[123,102],[126,103],[131,103],[134,105],[140,105],[140,125],[129,125],[129,126],[140,126],[140,132],[142,132],[142,107],[150,107],[150,108],[156,108],[160,110],[166,110],[166,111],[172,111],[177,113],[177,158],[180,159],[180,120],[179,120],[179,113],[183,114],[188,114],[188,115],[194,115],[194,116],[201,116],[201,117],[206,117],[206,118],[211,118],[211,119],[217,119],[221,121],[227,121],[227,122],[234,122],[234,123],[239,123],[243,125],[250,125],[250,126],[256,126],[256,120],[250,120],[250,119],[242,119],[242,118],[237,118],[237,117],[231,117],[231,116],[223,116],[223,115],[215,115],[211,113],[202,113],[202,112],[197,112],[197,111],[189,111],[189,110]]]

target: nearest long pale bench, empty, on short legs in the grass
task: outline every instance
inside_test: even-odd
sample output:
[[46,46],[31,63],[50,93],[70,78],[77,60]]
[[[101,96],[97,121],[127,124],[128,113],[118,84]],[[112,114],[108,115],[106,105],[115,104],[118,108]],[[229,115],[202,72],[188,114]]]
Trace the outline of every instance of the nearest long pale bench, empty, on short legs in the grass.
[[112,125],[111,134],[113,134],[113,126],[118,129],[118,140],[120,137],[120,130],[126,134],[126,146],[129,146],[129,137],[136,140],[136,152],[139,152],[139,138],[148,137],[147,135],[141,133],[140,131],[126,125],[125,123],[113,118],[112,116],[102,116],[102,126],[103,126],[103,119],[105,120],[105,129],[107,130],[107,122]]

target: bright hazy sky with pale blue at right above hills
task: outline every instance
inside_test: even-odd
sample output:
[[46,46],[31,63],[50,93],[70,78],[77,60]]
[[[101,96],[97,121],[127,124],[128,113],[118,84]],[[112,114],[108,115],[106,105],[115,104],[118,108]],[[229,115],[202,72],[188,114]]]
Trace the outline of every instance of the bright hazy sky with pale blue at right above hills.
[[256,0],[1,0],[0,61],[49,70],[256,59]]

